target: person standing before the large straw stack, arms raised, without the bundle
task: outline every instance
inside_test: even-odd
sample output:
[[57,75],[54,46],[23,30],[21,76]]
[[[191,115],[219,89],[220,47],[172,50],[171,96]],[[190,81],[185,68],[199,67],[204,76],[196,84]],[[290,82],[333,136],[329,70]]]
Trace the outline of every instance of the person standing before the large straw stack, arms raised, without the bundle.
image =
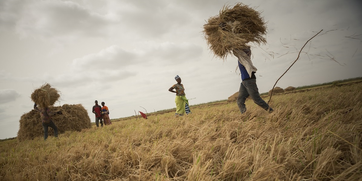
[[48,107],[45,108],[39,108],[36,103],[34,103],[34,110],[40,112],[40,116],[42,119],[42,125],[44,129],[44,140],[48,138],[48,127],[51,127],[54,129],[54,137],[58,137],[58,127],[54,124],[51,116],[54,116],[56,114],[62,115],[62,111],[50,111]]

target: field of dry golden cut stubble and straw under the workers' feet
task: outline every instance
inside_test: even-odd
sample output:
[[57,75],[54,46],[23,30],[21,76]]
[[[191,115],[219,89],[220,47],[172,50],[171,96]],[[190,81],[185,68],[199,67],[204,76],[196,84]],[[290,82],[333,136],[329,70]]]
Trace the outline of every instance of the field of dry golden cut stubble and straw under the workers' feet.
[[[362,178],[362,83],[0,142],[0,180],[348,180]],[[266,100],[266,98],[264,98]]]

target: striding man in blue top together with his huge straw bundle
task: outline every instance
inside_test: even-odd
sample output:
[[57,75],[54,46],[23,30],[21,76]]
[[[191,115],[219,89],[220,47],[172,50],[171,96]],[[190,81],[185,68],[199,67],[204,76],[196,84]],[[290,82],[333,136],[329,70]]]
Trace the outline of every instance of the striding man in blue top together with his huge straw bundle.
[[215,56],[225,60],[228,55],[234,55],[238,59],[242,82],[236,102],[241,114],[247,110],[245,100],[249,96],[263,109],[273,111],[258,92],[255,76],[257,69],[250,59],[251,49],[247,45],[249,42],[259,45],[266,43],[265,24],[259,12],[237,3],[233,8],[224,6],[218,16],[209,18],[204,25],[205,39]]

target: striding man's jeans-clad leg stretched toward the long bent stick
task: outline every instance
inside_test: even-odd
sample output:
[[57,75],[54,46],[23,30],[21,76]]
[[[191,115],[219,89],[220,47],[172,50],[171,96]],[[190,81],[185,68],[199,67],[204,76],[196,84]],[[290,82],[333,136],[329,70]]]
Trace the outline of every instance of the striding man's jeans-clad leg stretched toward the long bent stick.
[[266,111],[273,111],[273,109],[271,109],[271,107],[268,105],[268,103],[266,103],[259,94],[258,91],[258,87],[256,85],[256,79],[250,79],[250,80],[246,80],[243,81],[245,88],[247,89],[250,97],[253,99],[253,101],[259,105],[260,107],[262,107],[264,110]]

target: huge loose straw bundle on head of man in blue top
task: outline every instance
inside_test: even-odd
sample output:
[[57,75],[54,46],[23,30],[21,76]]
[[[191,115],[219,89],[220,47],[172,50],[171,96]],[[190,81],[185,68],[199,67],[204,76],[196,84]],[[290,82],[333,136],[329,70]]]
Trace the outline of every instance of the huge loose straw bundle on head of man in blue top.
[[223,60],[232,55],[232,49],[247,48],[248,42],[265,44],[266,22],[253,8],[237,3],[233,8],[224,6],[219,15],[210,17],[203,34],[209,49]]

